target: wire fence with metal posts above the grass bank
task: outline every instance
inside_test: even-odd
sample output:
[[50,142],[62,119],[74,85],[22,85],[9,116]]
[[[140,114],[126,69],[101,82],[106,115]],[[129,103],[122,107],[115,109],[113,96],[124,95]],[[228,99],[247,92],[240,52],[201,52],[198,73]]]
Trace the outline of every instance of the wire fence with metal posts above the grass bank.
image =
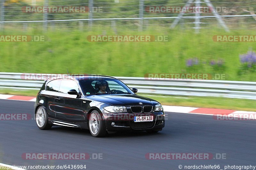
[[0,0],[1,28],[256,28],[255,0]]

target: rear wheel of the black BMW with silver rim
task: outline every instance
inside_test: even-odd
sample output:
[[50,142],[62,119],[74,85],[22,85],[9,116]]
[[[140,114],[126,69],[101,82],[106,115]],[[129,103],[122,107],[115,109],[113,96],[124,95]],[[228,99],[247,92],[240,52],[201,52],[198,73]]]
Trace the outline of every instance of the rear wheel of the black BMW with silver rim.
[[48,114],[44,107],[39,106],[36,110],[36,124],[39,129],[51,129],[52,125],[48,124]]

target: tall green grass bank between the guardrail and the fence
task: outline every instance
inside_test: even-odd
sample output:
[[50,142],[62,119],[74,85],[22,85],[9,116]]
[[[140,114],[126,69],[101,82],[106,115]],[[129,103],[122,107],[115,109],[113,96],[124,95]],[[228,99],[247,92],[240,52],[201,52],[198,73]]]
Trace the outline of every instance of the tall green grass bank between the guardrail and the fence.
[[[49,29],[50,30],[50,29]],[[105,74],[143,77],[147,73],[217,73],[227,80],[256,81],[256,72],[238,74],[239,54],[255,49],[255,42],[214,42],[218,29],[169,30],[152,28],[138,32],[110,27],[93,31],[2,32],[1,35],[47,35],[46,42],[1,42],[0,72]],[[10,30],[9,30],[10,31]],[[13,30],[12,30],[13,31]],[[88,42],[88,35],[168,35],[169,42]],[[228,35],[254,35],[254,31],[231,31]],[[201,65],[187,67],[186,60],[197,57]],[[211,60],[223,59],[223,68],[213,68]]]

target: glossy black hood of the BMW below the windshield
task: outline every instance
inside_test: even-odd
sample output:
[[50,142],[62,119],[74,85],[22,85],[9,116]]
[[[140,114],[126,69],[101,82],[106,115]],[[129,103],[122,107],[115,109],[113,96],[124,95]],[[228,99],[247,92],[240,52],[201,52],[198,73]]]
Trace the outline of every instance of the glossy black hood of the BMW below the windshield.
[[156,100],[138,96],[138,95],[92,95],[86,96],[88,99],[100,101],[103,103],[109,103],[111,105],[124,105],[124,106],[134,106],[140,105],[139,103],[143,103],[142,105],[156,105],[159,102]]

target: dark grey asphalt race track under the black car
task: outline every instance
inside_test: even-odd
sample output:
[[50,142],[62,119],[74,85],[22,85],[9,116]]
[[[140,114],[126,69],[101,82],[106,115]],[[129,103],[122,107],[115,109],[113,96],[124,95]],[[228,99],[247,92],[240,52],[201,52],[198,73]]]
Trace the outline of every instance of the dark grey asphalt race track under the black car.
[[[34,102],[0,100],[1,113],[29,113]],[[87,169],[179,169],[189,165],[256,165],[255,120],[214,120],[208,115],[166,112],[156,134],[123,132],[94,138],[88,130],[55,126],[40,130],[35,120],[0,120],[0,162],[9,165],[86,165]],[[93,153],[102,159],[25,160],[22,153]],[[147,153],[224,153],[226,159],[148,160]]]

